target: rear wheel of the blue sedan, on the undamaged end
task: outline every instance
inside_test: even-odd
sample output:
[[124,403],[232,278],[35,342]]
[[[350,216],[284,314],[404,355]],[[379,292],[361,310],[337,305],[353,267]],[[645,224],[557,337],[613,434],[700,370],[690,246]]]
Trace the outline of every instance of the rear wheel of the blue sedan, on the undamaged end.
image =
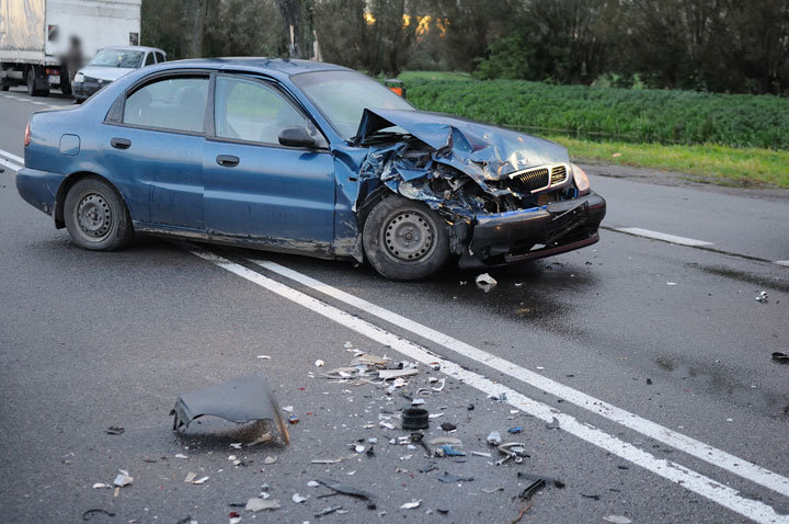
[[93,251],[124,248],[134,236],[132,217],[115,187],[99,179],[79,180],[66,195],[64,220],[71,240]]

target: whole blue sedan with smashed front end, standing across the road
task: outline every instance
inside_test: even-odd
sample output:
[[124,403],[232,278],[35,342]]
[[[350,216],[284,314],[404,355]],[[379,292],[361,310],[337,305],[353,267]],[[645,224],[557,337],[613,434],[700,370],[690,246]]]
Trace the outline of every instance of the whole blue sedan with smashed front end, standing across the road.
[[559,145],[418,111],[330,64],[147,67],[35,113],[24,145],[22,197],[98,251],[142,231],[418,280],[592,244],[605,216]]

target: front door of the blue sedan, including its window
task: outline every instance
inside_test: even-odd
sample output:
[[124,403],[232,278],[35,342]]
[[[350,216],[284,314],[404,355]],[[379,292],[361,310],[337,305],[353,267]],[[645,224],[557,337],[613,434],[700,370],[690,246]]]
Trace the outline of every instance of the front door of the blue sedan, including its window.
[[[215,82],[214,135],[203,157],[208,232],[283,249],[331,244],[334,162],[323,136],[271,83],[232,75]],[[279,145],[286,127],[310,128],[323,147]]]

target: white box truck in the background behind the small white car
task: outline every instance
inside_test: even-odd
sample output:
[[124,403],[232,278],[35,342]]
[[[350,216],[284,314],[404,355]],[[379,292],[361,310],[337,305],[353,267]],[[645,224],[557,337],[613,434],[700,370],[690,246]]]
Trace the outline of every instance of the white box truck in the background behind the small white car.
[[0,90],[71,94],[69,66],[102,47],[140,44],[141,1],[0,0]]

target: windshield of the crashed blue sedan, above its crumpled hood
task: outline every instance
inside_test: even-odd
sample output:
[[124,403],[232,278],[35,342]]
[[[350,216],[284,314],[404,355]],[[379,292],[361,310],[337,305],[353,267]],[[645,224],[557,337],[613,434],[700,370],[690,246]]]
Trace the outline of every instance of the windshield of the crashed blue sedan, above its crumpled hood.
[[307,72],[290,79],[346,140],[356,135],[365,109],[414,111],[405,100],[355,71]]

